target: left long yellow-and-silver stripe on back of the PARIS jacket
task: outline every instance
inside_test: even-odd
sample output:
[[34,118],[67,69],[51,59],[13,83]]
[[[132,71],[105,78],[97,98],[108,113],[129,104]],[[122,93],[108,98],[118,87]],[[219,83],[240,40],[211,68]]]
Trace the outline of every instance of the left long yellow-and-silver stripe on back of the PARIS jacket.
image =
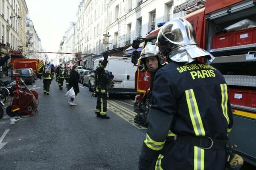
[[201,119],[201,115],[198,109],[198,104],[195,99],[193,89],[185,91],[186,101],[189,109],[189,116],[192,121],[193,129],[196,136],[205,136],[204,125]]

